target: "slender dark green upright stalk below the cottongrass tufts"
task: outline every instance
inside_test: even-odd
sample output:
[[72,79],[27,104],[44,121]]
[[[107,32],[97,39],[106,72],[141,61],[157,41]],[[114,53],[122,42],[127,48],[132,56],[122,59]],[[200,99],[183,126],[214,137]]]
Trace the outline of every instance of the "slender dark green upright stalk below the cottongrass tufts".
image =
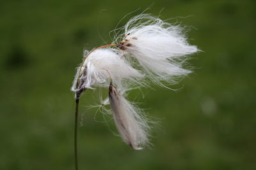
[[79,107],[79,98],[76,99],[75,131],[74,131],[74,154],[75,154],[76,170],[78,170],[78,160],[77,160],[77,118],[78,118],[78,107]]

